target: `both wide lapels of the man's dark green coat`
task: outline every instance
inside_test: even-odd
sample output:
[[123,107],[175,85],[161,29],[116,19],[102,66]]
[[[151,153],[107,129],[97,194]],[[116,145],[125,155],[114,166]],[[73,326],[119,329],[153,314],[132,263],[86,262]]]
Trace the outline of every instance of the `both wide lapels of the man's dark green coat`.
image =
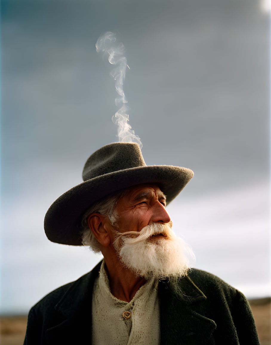
[[[48,344],[55,344],[55,339],[61,339],[65,344],[91,339],[92,289],[100,266],[101,262],[71,284],[59,300],[55,309],[64,317],[64,321],[47,330]],[[158,293],[161,344],[212,344],[211,335],[216,325],[213,320],[199,313],[199,306],[207,298],[189,276],[180,279],[178,283],[161,280]],[[87,331],[87,336],[85,332],[80,332],[83,329]]]

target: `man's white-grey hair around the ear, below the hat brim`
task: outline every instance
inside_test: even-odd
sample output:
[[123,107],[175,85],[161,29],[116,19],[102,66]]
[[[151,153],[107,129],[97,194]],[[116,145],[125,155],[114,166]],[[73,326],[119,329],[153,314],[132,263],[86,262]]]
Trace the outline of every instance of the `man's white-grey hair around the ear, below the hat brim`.
[[113,226],[116,225],[118,214],[117,214],[117,201],[124,196],[126,191],[119,191],[117,193],[109,194],[108,196],[98,200],[92,204],[91,207],[84,213],[82,220],[82,231],[81,238],[84,246],[89,246],[94,253],[101,252],[100,243],[93,235],[89,224],[89,216],[92,213],[100,213],[103,217],[107,218],[109,223]]

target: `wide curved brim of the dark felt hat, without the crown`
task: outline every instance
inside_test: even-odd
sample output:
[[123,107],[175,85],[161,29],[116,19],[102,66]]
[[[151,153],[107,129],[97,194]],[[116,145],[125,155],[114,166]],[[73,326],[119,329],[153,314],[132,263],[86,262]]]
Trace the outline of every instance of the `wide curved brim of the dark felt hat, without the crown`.
[[80,246],[82,215],[96,201],[123,188],[157,183],[170,203],[193,177],[192,170],[167,166],[143,166],[110,172],[87,180],[62,194],[48,209],[44,230],[52,242]]

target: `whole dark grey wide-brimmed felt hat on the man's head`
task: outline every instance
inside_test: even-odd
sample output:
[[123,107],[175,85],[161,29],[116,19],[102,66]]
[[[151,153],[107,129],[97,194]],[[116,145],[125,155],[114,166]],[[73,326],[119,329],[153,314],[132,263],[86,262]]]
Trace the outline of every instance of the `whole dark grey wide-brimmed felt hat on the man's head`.
[[48,209],[44,218],[46,236],[52,242],[80,246],[82,216],[94,202],[123,188],[156,183],[168,204],[193,175],[183,167],[147,166],[136,143],[103,146],[84,165],[84,182],[62,194]]

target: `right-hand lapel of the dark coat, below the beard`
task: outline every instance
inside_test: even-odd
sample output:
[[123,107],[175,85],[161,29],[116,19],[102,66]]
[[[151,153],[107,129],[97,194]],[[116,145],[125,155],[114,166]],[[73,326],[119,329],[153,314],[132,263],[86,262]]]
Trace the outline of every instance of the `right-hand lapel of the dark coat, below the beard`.
[[213,320],[198,313],[207,299],[189,277],[159,282],[161,344],[214,344]]

